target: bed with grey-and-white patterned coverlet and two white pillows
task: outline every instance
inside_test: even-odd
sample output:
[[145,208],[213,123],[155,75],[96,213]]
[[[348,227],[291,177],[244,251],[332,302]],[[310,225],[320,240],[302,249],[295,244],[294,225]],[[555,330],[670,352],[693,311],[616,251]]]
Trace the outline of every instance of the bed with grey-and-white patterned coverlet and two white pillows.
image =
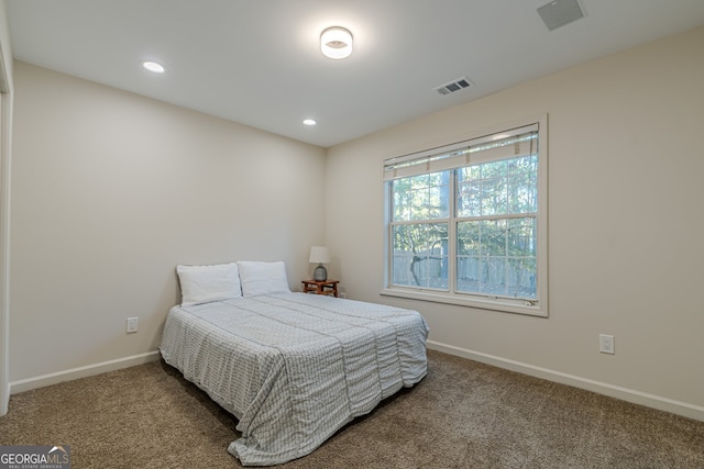
[[[242,436],[228,450],[242,465],[308,455],[426,376],[429,330],[418,312],[293,293],[280,281],[283,264],[275,277],[262,275],[272,263],[258,263],[254,276],[252,266],[232,265],[237,280],[230,271],[221,283],[237,286],[217,287],[230,292],[206,294],[208,301],[190,301],[187,276],[179,272],[184,301],[169,310],[160,349],[239,418]],[[222,298],[228,295],[233,298]]]

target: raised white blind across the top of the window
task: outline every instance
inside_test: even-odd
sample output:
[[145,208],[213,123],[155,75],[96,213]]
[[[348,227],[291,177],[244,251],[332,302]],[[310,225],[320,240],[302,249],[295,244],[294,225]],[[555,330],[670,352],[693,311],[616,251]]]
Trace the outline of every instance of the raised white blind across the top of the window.
[[384,180],[461,168],[538,152],[538,124],[384,160]]

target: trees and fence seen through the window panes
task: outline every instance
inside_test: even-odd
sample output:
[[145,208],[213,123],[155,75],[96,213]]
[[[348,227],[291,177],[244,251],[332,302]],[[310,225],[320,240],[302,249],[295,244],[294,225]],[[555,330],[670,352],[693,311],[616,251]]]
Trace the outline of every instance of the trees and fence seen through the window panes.
[[[454,217],[449,209],[452,178],[457,178]],[[530,297],[534,288],[535,295],[537,194],[537,155],[392,181],[395,283],[410,284],[413,277],[419,287],[432,279],[447,286],[447,221],[454,219],[458,281],[468,280],[460,289],[528,289]],[[410,277],[399,271],[402,265]]]

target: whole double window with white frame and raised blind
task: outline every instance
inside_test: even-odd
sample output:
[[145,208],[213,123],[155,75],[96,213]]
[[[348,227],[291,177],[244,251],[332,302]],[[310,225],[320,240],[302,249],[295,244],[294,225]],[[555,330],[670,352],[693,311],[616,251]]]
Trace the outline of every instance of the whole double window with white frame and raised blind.
[[384,161],[383,294],[547,316],[546,123]]

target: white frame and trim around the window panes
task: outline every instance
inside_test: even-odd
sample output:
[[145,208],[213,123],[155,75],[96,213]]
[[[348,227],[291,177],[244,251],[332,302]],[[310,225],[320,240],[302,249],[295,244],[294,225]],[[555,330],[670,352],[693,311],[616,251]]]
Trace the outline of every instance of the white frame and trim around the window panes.
[[[469,166],[472,163],[458,163],[462,148],[475,146],[477,144],[491,142],[497,135],[519,134],[525,129],[537,125],[538,127],[538,214],[537,214],[537,289],[535,300],[519,300],[510,298],[496,298],[490,295],[479,295],[454,291],[454,277],[457,277],[457,233],[454,223],[449,225],[449,269],[448,282],[449,291],[425,289],[421,287],[393,286],[392,284],[392,193],[391,180],[405,177],[406,161],[424,161],[427,165],[427,172],[444,170],[461,166]],[[448,156],[452,154],[451,156]],[[497,158],[498,159],[498,158]],[[454,188],[451,189],[451,198],[455,199]],[[384,160],[384,289],[381,294],[388,297],[406,298],[411,300],[431,301],[462,306],[471,306],[484,310],[493,310],[508,313],[527,314],[532,316],[548,317],[548,115],[542,114],[532,119],[526,119],[515,124],[502,125],[483,132],[468,135],[462,142],[452,143],[425,149],[413,154],[388,158]],[[454,203],[451,203],[454,210]],[[454,219],[455,213],[451,213]]]

